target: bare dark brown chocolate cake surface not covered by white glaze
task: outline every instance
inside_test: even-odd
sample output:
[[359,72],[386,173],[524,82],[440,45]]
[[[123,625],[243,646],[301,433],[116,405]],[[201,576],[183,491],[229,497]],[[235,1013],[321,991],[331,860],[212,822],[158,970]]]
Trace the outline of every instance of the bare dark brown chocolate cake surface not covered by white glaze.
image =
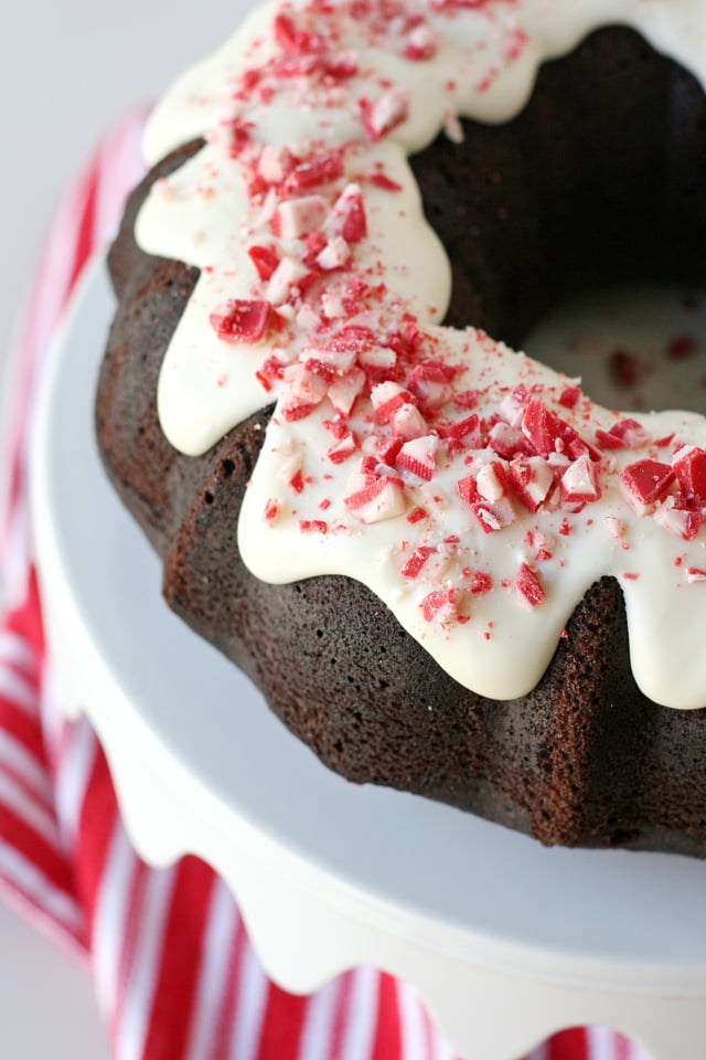
[[[706,106],[694,78],[632,31],[547,64],[520,116],[464,123],[413,159],[453,271],[448,321],[518,342],[550,305],[630,275],[703,280],[697,180]],[[199,457],[156,409],[197,269],[143,253],[139,188],[110,252],[118,298],[96,404],[117,490],[164,561],[169,605],[234,660],[330,767],[450,803],[546,844],[706,856],[706,712],[651,702],[630,664],[622,591],[597,582],[537,687],[495,701],[448,676],[361,582],[259,581],[236,544],[271,407]],[[606,253],[606,248],[610,253]]]

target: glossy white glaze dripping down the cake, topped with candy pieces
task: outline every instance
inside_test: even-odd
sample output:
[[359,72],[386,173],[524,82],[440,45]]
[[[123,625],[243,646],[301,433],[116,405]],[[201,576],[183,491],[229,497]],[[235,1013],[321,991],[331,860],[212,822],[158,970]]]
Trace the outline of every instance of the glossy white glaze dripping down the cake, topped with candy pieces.
[[706,423],[608,412],[440,327],[450,268],[406,160],[458,115],[510,118],[542,61],[616,22],[706,81],[698,2],[260,9],[157,108],[152,161],[206,145],[137,236],[201,269],[160,379],[172,444],[202,453],[277,401],[238,526],[256,576],[357,577],[453,678],[506,699],[610,573],[638,683],[695,708]]

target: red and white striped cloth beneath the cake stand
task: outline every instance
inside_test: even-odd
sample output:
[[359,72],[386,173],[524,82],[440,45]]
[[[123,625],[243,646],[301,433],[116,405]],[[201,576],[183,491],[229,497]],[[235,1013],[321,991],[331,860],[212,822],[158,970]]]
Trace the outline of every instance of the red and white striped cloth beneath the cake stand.
[[[387,974],[359,968],[310,997],[268,982],[207,866],[140,861],[93,730],[62,718],[29,532],[32,395],[72,289],[140,174],[141,126],[133,115],[107,136],[61,203],[15,356],[0,498],[0,889],[90,962],[118,1060],[451,1060],[414,990]],[[532,1060],[640,1057],[591,1028],[556,1035]]]

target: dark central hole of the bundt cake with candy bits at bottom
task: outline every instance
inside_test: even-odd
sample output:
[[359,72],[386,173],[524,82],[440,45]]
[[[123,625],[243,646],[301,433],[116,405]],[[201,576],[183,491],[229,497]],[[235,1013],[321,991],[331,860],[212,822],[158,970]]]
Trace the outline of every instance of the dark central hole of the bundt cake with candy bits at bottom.
[[447,322],[527,348],[609,407],[705,412],[695,77],[610,26],[546,63],[512,121],[463,129],[411,159],[451,262]]

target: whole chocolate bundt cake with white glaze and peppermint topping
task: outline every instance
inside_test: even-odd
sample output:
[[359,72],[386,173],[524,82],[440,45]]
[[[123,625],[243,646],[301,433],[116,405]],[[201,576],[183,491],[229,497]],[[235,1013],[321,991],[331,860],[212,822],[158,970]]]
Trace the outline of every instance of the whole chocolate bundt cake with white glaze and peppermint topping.
[[511,349],[706,279],[706,10],[606,8],[256,12],[151,119],[97,433],[169,605],[327,765],[706,856],[706,421]]

